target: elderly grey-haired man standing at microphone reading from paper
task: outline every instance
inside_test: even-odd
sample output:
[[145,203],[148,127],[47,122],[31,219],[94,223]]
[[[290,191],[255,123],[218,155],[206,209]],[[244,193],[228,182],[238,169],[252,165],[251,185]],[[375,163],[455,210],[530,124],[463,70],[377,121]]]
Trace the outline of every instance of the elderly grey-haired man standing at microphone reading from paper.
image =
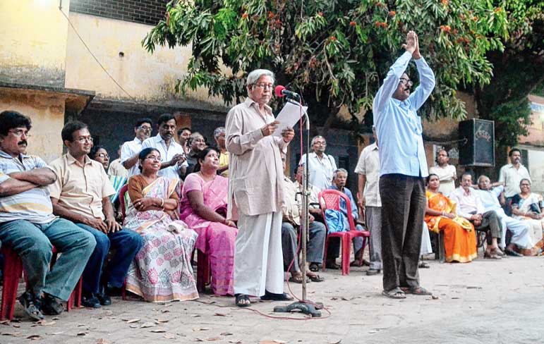
[[249,73],[246,101],[226,115],[226,150],[229,151],[229,209],[238,219],[234,252],[236,305],[250,305],[249,295],[263,300],[292,300],[283,292],[282,256],[283,167],[280,149],[286,151],[294,130],[272,133],[279,122],[268,106],[274,73]]

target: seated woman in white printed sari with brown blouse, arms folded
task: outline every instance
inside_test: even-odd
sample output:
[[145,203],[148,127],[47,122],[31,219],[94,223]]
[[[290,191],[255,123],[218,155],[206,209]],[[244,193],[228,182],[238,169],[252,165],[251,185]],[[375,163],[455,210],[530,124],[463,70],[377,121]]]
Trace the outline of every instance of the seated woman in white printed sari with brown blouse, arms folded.
[[157,176],[157,149],[143,149],[138,158],[141,173],[128,180],[124,225],[140,233],[144,244],[128,269],[126,290],[150,302],[196,299],[191,254],[197,233],[175,220],[178,180]]

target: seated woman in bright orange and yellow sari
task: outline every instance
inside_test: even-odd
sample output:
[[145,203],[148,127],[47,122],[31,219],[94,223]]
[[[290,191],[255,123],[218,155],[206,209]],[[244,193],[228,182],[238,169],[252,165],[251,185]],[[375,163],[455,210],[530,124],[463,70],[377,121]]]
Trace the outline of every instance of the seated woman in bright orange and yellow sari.
[[444,231],[446,262],[472,262],[472,259],[478,257],[474,226],[455,214],[455,203],[438,192],[439,187],[440,179],[431,173],[428,178],[425,223],[429,231]]

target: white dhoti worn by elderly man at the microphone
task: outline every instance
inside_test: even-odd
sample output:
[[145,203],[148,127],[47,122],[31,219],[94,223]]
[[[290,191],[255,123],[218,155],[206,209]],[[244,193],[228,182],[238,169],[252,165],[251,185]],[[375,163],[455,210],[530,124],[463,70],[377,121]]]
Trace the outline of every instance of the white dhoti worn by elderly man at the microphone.
[[282,212],[239,214],[234,252],[234,293],[284,292]]

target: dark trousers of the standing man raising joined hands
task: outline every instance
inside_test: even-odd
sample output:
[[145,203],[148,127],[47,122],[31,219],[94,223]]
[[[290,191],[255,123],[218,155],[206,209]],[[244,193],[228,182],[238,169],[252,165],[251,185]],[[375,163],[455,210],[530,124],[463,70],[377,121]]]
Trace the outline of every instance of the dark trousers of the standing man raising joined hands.
[[402,174],[380,177],[383,289],[418,287],[425,185]]

